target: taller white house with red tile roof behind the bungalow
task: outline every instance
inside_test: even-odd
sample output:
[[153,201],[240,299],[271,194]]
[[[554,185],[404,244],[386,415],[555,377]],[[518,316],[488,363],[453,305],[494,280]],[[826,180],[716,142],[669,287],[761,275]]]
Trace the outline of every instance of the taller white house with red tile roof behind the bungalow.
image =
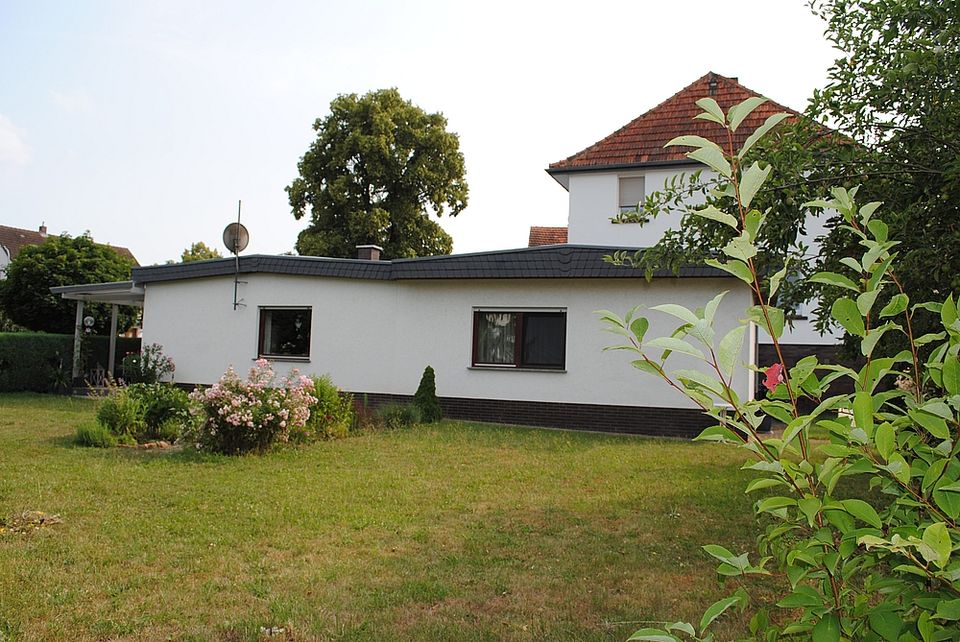
[[[740,84],[737,78],[728,78],[708,73],[687,85],[679,92],[638,116],[609,136],[597,141],[563,160],[551,163],[550,174],[569,192],[568,228],[565,241],[581,245],[627,245],[651,247],[663,234],[679,223],[679,216],[661,216],[640,225],[638,223],[613,223],[612,217],[619,212],[633,210],[646,196],[663,189],[670,179],[683,173],[703,170],[704,165],[686,157],[689,147],[664,147],[677,136],[697,135],[710,140],[725,140],[726,130],[716,123],[695,119],[702,110],[697,100],[711,97],[724,111],[748,98],[760,96],[759,92]],[[772,100],[760,105],[740,125],[734,134],[733,143],[739,147],[747,137],[771,115],[787,112],[799,117],[799,112]],[[688,204],[696,205],[696,201]],[[563,228],[530,228],[530,245],[542,244],[541,233],[534,230]],[[816,253],[818,236],[824,233],[822,219],[811,219],[807,224],[804,243]],[[560,238],[560,232],[551,232]],[[534,241],[538,242],[535,243]],[[793,328],[783,343],[796,345],[833,345],[839,335],[821,336],[814,328],[812,311],[803,307],[796,311]],[[761,333],[759,342],[770,339]]]

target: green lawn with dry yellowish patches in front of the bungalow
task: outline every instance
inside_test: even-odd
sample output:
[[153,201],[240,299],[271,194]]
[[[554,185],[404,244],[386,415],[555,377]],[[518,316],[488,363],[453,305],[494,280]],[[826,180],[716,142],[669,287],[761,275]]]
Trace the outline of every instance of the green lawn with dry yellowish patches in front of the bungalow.
[[[624,640],[724,594],[757,527],[731,448],[444,422],[266,456],[75,447],[0,395],[4,640]],[[721,637],[723,637],[721,635]]]

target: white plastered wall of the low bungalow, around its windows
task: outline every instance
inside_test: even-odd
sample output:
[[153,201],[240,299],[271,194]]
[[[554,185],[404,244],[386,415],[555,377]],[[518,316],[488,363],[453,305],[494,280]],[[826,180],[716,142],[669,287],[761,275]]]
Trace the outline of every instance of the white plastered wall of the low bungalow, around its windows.
[[[309,306],[308,362],[276,361],[278,372],[299,368],[329,374],[345,390],[410,395],[433,366],[441,397],[690,408],[665,383],[630,366],[630,353],[604,352],[618,343],[595,311],[622,314],[643,304],[678,303],[695,309],[729,289],[717,332],[735,327],[750,304],[746,286],[727,278],[442,279],[375,281],[315,276],[245,274],[245,307],[233,309],[233,278],[145,284],[145,344],[159,343],[176,363],[176,380],[210,384],[227,366],[244,373],[257,358],[260,306]],[[563,371],[471,367],[476,308],[566,311]],[[671,317],[650,313],[648,336],[667,335]],[[745,342],[742,359],[750,356]],[[675,368],[694,367],[675,359]],[[735,388],[752,396],[746,368]]]

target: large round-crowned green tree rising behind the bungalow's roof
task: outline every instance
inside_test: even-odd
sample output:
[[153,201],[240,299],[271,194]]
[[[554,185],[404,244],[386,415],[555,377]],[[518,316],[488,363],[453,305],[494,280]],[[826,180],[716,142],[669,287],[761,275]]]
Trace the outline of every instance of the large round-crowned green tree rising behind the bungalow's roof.
[[300,176],[286,188],[294,217],[310,217],[300,254],[350,258],[367,244],[389,258],[452,251],[431,216],[459,214],[467,183],[459,138],[442,114],[381,89],[338,96],[313,128]]

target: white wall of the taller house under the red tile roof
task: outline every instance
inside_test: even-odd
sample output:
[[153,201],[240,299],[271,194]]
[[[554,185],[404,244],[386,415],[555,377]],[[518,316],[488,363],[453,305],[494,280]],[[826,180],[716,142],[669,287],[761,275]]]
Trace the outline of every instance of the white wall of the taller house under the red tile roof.
[[[624,177],[644,178],[646,193],[662,191],[664,184],[679,174],[691,174],[702,169],[698,165],[681,165],[670,167],[637,167],[618,171],[582,171],[564,174],[561,184],[569,191],[569,219],[568,242],[576,245],[602,245],[620,247],[652,247],[663,237],[669,229],[676,229],[680,224],[680,215],[658,216],[647,224],[613,223],[610,219],[620,211],[620,180]],[[709,172],[703,173],[705,177]],[[703,202],[702,195],[697,195],[689,201],[689,205],[699,205]],[[635,205],[635,204],[634,204]],[[823,236],[826,230],[823,217],[811,217],[807,221],[806,233],[801,237],[802,242],[809,247],[809,260],[813,260],[819,251],[817,238]],[[797,310],[800,319],[792,321],[791,326],[784,330],[781,343],[785,344],[813,344],[836,345],[840,342],[842,333],[834,330],[821,335],[814,327],[813,306],[804,304]],[[758,334],[760,343],[772,343],[764,331]]]

